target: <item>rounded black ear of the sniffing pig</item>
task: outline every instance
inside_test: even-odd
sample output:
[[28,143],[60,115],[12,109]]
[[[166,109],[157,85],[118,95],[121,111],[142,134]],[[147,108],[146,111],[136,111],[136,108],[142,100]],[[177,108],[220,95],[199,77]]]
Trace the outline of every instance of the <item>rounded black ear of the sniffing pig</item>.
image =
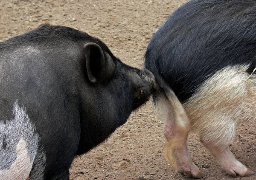
[[90,82],[103,82],[109,79],[115,67],[113,59],[110,56],[105,57],[102,48],[92,42],[84,45],[83,50]]

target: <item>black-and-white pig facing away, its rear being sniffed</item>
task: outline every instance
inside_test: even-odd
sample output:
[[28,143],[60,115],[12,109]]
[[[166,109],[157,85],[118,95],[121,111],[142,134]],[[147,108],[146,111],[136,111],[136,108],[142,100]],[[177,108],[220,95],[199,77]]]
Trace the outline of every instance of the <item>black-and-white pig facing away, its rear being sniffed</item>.
[[151,38],[145,67],[167,140],[165,156],[188,177],[203,174],[186,145],[191,129],[233,177],[254,174],[229,149],[239,122],[256,119],[256,1],[191,0]]

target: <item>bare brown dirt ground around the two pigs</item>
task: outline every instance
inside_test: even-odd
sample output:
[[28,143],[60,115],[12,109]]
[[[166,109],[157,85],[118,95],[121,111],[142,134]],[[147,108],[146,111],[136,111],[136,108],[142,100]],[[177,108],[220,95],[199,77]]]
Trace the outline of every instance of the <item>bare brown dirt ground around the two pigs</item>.
[[[0,0],[0,41],[23,34],[42,23],[64,25],[99,37],[114,55],[137,68],[145,48],[169,14],[186,0]],[[241,124],[230,149],[256,171],[256,130]],[[180,180],[163,155],[163,122],[148,102],[131,114],[100,146],[74,160],[71,180]],[[207,180],[255,180],[230,177],[215,162],[195,134],[189,136],[192,160]],[[206,166],[206,164],[208,164]]]

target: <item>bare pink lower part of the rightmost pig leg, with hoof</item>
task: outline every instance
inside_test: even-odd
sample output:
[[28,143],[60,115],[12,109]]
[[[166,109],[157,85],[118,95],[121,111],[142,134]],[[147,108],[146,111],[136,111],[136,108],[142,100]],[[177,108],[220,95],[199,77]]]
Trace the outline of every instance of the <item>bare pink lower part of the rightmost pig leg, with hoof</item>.
[[247,167],[235,158],[228,146],[214,146],[211,143],[201,142],[207,147],[209,152],[211,152],[215,160],[224,168],[227,174],[230,174],[232,177],[236,177],[237,175],[244,177],[255,174],[255,172],[247,169]]

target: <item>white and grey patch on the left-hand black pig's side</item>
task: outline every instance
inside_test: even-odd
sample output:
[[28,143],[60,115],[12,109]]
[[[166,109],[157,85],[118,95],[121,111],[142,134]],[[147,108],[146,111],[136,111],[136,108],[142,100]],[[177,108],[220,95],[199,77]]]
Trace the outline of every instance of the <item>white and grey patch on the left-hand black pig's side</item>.
[[11,121],[0,121],[0,180],[42,180],[45,155],[35,127],[16,100]]

